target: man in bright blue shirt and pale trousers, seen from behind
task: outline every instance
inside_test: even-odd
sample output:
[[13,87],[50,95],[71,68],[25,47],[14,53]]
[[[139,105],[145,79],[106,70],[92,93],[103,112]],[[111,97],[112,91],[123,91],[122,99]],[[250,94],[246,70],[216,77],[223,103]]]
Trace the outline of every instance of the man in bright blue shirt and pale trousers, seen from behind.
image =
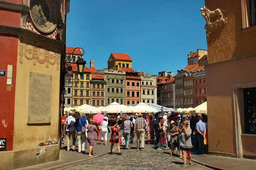
[[84,144],[85,144],[85,133],[82,133],[82,127],[86,127],[88,125],[87,119],[83,118],[83,114],[79,114],[79,119],[76,119],[76,130],[77,130],[77,139],[78,139],[78,153],[85,152]]

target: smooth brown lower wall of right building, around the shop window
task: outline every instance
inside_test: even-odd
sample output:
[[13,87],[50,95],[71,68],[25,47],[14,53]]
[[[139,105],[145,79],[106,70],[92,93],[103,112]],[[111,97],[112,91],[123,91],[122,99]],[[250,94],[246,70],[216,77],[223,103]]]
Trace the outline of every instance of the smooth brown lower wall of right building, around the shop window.
[[[209,151],[236,154],[233,84],[256,82],[256,76],[246,74],[255,73],[255,65],[256,55],[205,66]],[[243,143],[252,146],[255,141],[249,139]],[[256,152],[253,154],[256,156]]]

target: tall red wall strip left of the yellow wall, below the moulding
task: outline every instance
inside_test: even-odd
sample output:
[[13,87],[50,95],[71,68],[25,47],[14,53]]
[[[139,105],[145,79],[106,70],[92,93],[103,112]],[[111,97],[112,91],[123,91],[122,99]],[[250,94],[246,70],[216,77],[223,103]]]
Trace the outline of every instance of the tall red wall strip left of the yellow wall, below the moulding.
[[[0,70],[6,70],[6,77],[0,77],[0,138],[7,138],[7,151],[13,148],[17,43],[16,35],[0,33]],[[7,65],[13,65],[11,91],[6,91]],[[4,124],[7,126],[5,127]]]

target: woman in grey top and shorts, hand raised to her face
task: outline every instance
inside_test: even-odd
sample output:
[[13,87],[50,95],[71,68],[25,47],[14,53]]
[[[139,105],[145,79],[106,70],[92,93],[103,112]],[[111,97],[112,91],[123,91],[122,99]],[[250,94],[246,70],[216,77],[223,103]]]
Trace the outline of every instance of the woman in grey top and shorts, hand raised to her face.
[[182,151],[182,158],[184,161],[184,164],[182,165],[183,167],[186,166],[186,153],[189,158],[189,164],[193,165],[191,159],[191,150],[192,150],[192,142],[191,142],[191,133],[192,130],[189,128],[189,123],[188,122],[182,122],[181,123],[181,130],[179,129],[180,132],[180,149]]

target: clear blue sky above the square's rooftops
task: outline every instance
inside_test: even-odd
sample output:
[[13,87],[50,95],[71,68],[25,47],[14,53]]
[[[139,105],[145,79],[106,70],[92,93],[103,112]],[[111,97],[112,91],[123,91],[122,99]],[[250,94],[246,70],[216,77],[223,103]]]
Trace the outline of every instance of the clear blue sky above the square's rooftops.
[[89,67],[108,67],[127,53],[134,71],[158,74],[186,67],[187,54],[207,49],[204,0],[71,0],[67,46],[84,49]]

